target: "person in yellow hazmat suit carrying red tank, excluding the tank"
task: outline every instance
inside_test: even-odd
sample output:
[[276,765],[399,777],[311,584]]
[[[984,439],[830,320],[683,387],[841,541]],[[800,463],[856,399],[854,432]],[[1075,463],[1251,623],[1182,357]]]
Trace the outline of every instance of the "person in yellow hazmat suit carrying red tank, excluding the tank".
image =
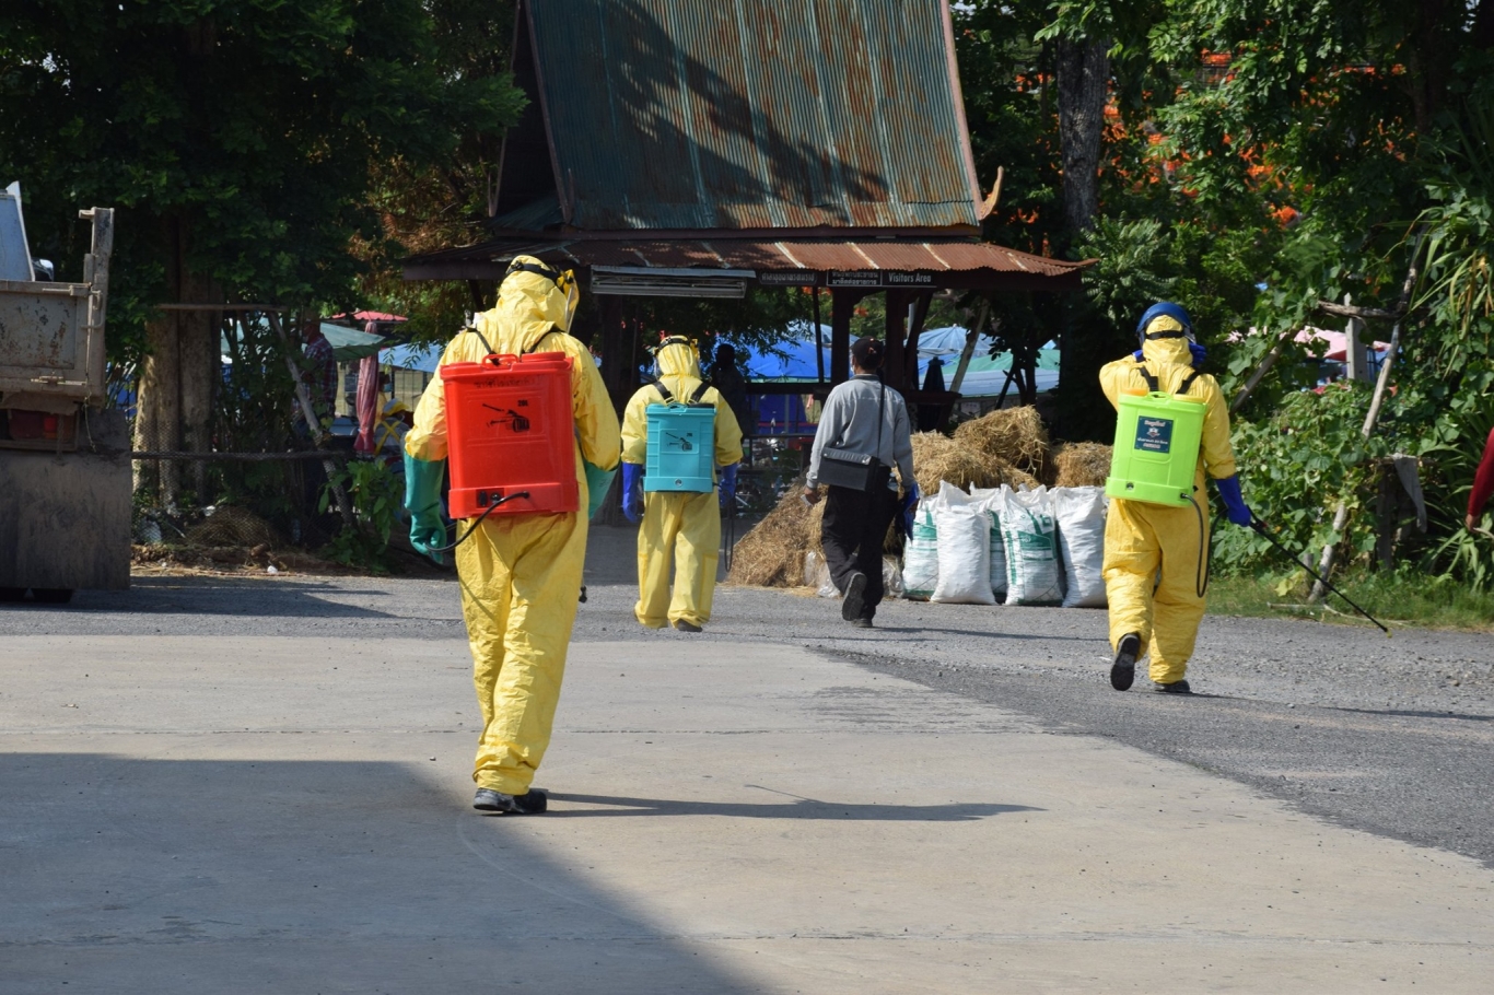
[[[571,357],[575,475],[583,511],[483,518],[456,548],[462,616],[472,645],[472,678],[483,710],[472,805],[530,814],[545,795],[530,789],[550,744],[566,647],[581,593],[587,520],[617,472],[617,412],[590,353],[566,330],[575,282],[530,255],[517,257],[498,306],[477,315],[447,345],[441,365],[480,362],[489,353],[565,353]],[[441,371],[415,408],[405,435],[405,506],[411,544],[439,562],[447,542],[441,475],[447,459],[447,408]]]

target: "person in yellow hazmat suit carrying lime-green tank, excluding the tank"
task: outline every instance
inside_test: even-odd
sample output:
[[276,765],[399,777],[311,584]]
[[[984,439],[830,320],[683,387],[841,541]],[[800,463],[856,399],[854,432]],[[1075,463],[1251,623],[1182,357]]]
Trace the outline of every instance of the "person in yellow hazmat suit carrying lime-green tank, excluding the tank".
[[[1110,403],[1118,405],[1126,391],[1161,390],[1200,397],[1207,412],[1194,477],[1195,506],[1110,500],[1104,559],[1110,645],[1116,653],[1110,684],[1116,690],[1129,689],[1144,650],[1156,690],[1188,693],[1183,674],[1203,620],[1207,583],[1206,475],[1215,480],[1230,521],[1249,526],[1250,511],[1240,495],[1230,448],[1230,408],[1215,378],[1194,369],[1203,363],[1203,347],[1194,341],[1188,312],[1170,302],[1153,305],[1141,315],[1137,335],[1140,350],[1100,371],[1100,385]],[[1155,378],[1155,387],[1147,375]]]

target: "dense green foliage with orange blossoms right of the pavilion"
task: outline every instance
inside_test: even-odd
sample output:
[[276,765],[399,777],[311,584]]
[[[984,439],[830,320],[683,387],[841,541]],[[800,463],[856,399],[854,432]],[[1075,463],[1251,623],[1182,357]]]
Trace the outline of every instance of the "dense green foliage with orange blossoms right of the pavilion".
[[[1011,178],[989,235],[1100,260],[1083,306],[1058,326],[1061,427],[1098,435],[1080,417],[1097,399],[1071,353],[1112,359],[1146,302],[1180,300],[1231,396],[1282,345],[1236,415],[1236,447],[1247,499],[1286,538],[1369,562],[1383,460],[1406,453],[1422,457],[1431,527],[1403,527],[1401,556],[1494,578],[1494,547],[1461,530],[1494,421],[1494,3],[977,0],[956,16],[980,169],[1005,164]],[[1110,54],[1100,206],[1082,230],[1059,211],[1065,40]],[[1397,314],[1410,305],[1369,439],[1370,385],[1313,391],[1318,365],[1292,341],[1342,329],[1319,302],[1345,296]],[[1371,323],[1367,338],[1388,341],[1391,324]],[[1348,526],[1334,535],[1340,502]],[[1221,544],[1225,566],[1270,553],[1242,530]]]

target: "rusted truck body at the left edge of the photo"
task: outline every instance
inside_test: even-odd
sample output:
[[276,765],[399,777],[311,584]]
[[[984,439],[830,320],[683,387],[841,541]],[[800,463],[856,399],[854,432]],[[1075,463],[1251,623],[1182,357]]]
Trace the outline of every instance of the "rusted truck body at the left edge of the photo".
[[114,211],[78,284],[0,279],[0,599],[130,586],[130,439],[106,406]]

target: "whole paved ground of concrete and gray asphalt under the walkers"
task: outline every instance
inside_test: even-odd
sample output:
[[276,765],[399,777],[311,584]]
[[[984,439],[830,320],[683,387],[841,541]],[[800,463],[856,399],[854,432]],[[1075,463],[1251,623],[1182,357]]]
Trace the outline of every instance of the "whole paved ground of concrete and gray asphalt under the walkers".
[[1118,695],[1094,611],[642,632],[627,541],[544,819],[466,808],[450,581],[0,610],[0,992],[1488,991],[1487,638],[1210,620],[1218,696]]

